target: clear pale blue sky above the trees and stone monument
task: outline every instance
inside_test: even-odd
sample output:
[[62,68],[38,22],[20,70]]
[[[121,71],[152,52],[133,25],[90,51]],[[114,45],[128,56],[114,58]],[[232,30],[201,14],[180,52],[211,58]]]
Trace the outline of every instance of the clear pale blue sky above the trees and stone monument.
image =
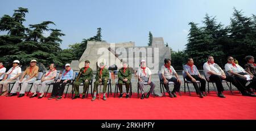
[[[26,22],[38,24],[52,21],[49,28],[61,29],[62,49],[95,36],[102,28],[102,40],[108,43],[134,41],[146,46],[148,32],[163,37],[173,50],[185,49],[189,22],[199,23],[205,14],[216,16],[217,22],[228,26],[233,8],[244,15],[256,14],[255,0],[0,0],[0,17],[13,15],[18,7],[28,9]],[[0,32],[0,35],[6,32]],[[49,35],[49,32],[44,32]]]

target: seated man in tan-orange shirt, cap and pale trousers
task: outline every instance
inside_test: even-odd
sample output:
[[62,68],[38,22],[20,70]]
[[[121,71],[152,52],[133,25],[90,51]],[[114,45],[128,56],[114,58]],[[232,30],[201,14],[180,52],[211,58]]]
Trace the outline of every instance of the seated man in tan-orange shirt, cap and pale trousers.
[[20,80],[15,82],[9,96],[15,96],[16,92],[18,91],[19,84],[22,83],[18,98],[23,97],[25,95],[28,83],[36,81],[36,77],[38,77],[38,69],[39,67],[36,66],[36,60],[31,60],[30,66],[27,67],[27,69],[24,71],[24,74],[22,75],[22,77],[20,77]]

